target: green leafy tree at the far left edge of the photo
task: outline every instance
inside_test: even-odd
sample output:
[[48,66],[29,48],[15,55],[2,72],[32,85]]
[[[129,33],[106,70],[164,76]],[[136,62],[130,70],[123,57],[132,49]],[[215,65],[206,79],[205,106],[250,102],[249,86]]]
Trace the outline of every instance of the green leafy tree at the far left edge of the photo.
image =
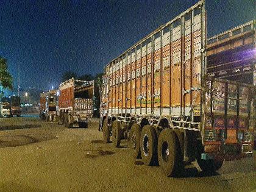
[[0,56],[0,85],[13,89],[13,77],[8,71],[7,59]]

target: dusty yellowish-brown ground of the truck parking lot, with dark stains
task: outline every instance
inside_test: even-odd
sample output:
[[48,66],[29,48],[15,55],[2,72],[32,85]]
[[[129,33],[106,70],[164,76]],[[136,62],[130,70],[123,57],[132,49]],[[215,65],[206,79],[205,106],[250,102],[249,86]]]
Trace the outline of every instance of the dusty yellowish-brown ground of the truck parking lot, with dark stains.
[[[180,178],[104,144],[98,124],[65,129],[38,118],[0,119],[0,191],[256,191],[256,155],[215,176],[193,165]],[[195,163],[196,165],[196,163]]]

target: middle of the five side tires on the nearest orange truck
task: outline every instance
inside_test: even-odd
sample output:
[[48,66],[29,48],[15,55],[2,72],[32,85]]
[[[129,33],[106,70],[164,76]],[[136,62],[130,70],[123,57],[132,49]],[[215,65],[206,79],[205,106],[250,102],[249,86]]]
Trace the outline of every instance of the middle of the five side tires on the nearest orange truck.
[[140,135],[141,135],[141,127],[137,123],[132,124],[132,128],[129,133],[129,141],[128,146],[130,148],[131,154],[133,158],[141,158],[140,154]]

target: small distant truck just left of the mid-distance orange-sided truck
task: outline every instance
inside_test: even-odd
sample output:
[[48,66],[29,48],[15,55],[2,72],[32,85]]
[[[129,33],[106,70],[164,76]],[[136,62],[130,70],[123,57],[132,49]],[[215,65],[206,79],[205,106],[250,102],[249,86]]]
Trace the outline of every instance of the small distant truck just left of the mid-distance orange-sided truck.
[[48,90],[40,93],[40,118],[46,121],[57,119],[58,90]]

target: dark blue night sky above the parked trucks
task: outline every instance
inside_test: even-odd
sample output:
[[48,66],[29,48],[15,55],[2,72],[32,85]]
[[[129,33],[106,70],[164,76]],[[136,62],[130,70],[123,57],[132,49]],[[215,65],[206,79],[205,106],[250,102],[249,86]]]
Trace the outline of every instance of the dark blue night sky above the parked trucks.
[[[103,67],[196,0],[0,0],[0,55],[21,87],[57,86],[66,70]],[[208,37],[256,18],[255,0],[206,0]]]

